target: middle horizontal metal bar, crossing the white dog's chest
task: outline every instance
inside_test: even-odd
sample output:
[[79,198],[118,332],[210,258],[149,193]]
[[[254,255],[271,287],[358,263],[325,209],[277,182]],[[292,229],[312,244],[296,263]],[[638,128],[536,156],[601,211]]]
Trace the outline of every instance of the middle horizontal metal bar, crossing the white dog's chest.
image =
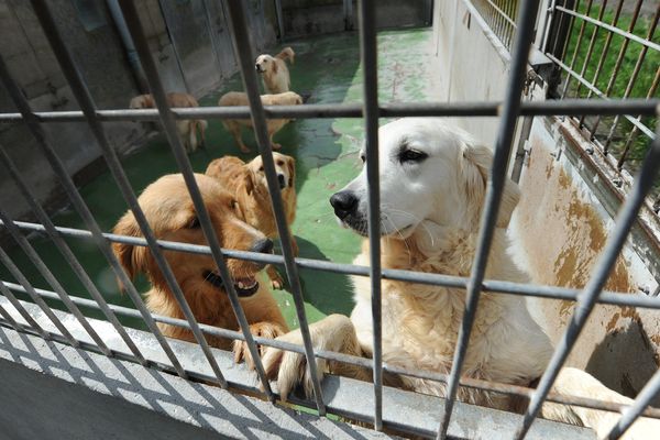
[[[0,224],[2,224],[1,221]],[[45,232],[45,228],[38,223],[14,221],[14,224],[19,228],[35,231],[38,233]],[[55,230],[58,233],[66,237],[73,237],[84,240],[94,239],[90,232],[81,229],[55,227]],[[111,242],[133,244],[136,246],[147,246],[146,240],[141,238],[118,235],[112,233],[103,233],[102,235],[106,240]],[[202,255],[211,254],[209,246],[166,240],[157,240],[156,243],[162,249],[169,251],[189,252]],[[246,260],[264,264],[284,264],[284,258],[280,255],[266,255],[230,249],[222,249],[222,253],[229,258]],[[295,262],[299,267],[302,268],[326,271],[346,275],[369,276],[367,266],[358,266],[354,264],[334,263],[321,260],[310,260],[300,257],[295,258]],[[465,288],[469,280],[469,278],[460,276],[387,268],[383,270],[383,278],[454,288]],[[563,300],[575,300],[578,295],[582,292],[579,289],[572,289],[566,287],[510,283],[497,279],[485,279],[483,282],[483,288],[484,290],[501,294],[524,295]],[[609,304],[614,306],[640,307],[660,310],[660,298],[649,297],[647,295],[631,295],[630,293],[603,292],[603,295],[601,296],[598,302]]]

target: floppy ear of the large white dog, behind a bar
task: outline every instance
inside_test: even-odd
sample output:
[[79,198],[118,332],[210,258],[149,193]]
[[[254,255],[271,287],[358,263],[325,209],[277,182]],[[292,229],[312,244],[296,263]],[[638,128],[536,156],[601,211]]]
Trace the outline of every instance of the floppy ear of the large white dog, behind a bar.
[[[493,153],[483,145],[468,145],[463,150],[461,174],[465,183],[465,194],[468,196],[469,210],[473,213],[475,222],[479,222],[480,216],[484,209],[486,196],[486,184],[488,173],[493,163]],[[520,199],[520,190],[509,178],[506,178],[502,202],[497,215],[497,227],[506,228],[512,219],[514,209]],[[477,223],[475,223],[477,224]]]

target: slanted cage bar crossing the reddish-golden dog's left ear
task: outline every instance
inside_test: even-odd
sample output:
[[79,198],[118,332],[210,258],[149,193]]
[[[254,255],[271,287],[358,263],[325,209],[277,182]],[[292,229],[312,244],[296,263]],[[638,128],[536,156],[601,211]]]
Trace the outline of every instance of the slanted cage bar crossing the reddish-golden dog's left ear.
[[156,261],[156,264],[158,265],[158,268],[161,270],[163,277],[165,278],[167,286],[173,293],[178,306],[180,307],[182,312],[190,323],[190,330],[193,331],[197,343],[201,348],[204,355],[209,362],[211,370],[216,374],[218,383],[223,388],[227,388],[227,381],[224,380],[224,376],[220,371],[220,366],[213,358],[213,354],[210,352],[206,338],[199,329],[199,324],[197,323],[197,320],[193,315],[193,310],[190,310],[190,306],[188,306],[186,297],[182,292],[178,283],[176,282],[176,277],[174,275],[174,272],[172,271],[172,267],[169,267],[167,260],[163,255],[163,251],[158,248],[158,244],[156,243],[156,237],[153,230],[151,229],[148,221],[146,220],[146,216],[140,207],[140,204],[138,202],[138,197],[135,196],[135,193],[133,193],[133,188],[131,187],[131,184],[125,173],[123,172],[121,162],[119,161],[117,153],[110,145],[110,142],[106,136],[106,132],[103,130],[102,124],[96,118],[96,106],[94,103],[91,95],[87,89],[87,85],[82,80],[82,76],[76,68],[76,63],[74,62],[72,54],[68,52],[66,45],[64,44],[64,41],[62,40],[62,35],[57,30],[57,25],[53,21],[53,16],[51,14],[51,11],[48,10],[48,7],[46,6],[44,0],[32,0],[32,4],[37,15],[37,19],[44,30],[44,33],[48,37],[48,42],[53,47],[53,52],[55,53],[55,56],[59,62],[62,70],[65,77],[67,78],[69,85],[72,86],[72,90],[76,96],[76,100],[78,101],[80,109],[87,118],[89,128],[91,129],[91,132],[94,133],[99,146],[101,147],[103,157],[106,158],[108,167],[112,173],[112,177],[119,186],[122,196],[129,204],[129,207],[133,211],[133,216],[138,221],[138,226],[140,227],[142,233],[144,234],[144,238],[146,239],[146,242],[150,245],[152,256]]

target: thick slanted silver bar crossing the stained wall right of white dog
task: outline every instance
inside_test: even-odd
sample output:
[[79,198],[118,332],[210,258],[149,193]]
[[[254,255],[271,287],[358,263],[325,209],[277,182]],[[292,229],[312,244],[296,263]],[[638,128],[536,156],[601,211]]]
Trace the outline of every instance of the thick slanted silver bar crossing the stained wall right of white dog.
[[630,193],[626,196],[626,201],[623,205],[619,213],[617,215],[616,223],[614,229],[609,233],[609,239],[605,244],[605,249],[603,250],[603,254],[598,258],[598,263],[594,268],[593,276],[588,280],[587,285],[584,287],[584,290],[579,295],[578,302],[575,305],[575,311],[571,317],[571,321],[566,328],[566,331],[563,333],[561,340],[557,344],[557,349],[554,353],[552,353],[552,358],[546,372],[541,376],[539,385],[537,386],[537,391],[532,394],[527,411],[525,413],[522,419],[522,426],[519,428],[516,433],[516,439],[521,440],[531,424],[536,419],[561,370],[563,363],[566,358],[571,353],[571,349],[573,348],[575,341],[580,337],[591,311],[598,299],[598,295],[601,294],[607,278],[609,277],[609,273],[612,272],[614,265],[616,264],[616,260],[618,254],[620,253],[626,238],[632,228],[637,219],[637,213],[639,212],[639,208],[642,206],[646,195],[653,186],[654,176],[658,173],[658,168],[660,168],[660,124],[657,128],[658,136],[651,143],[650,148],[647,153],[646,160],[641,166],[641,170],[639,175],[635,178],[635,183]]

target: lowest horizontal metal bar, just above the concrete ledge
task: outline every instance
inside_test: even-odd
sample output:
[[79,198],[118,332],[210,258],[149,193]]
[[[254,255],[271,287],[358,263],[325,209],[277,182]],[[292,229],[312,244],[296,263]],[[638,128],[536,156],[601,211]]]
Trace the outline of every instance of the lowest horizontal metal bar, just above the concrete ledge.
[[[19,284],[9,283],[9,282],[0,282],[0,286],[1,285],[4,285],[7,288],[14,290],[14,292],[19,292],[22,294],[25,293],[25,289]],[[35,290],[36,290],[37,295],[43,296],[44,298],[58,299],[57,294],[54,292],[38,289],[38,288],[36,288]],[[74,302],[76,302],[80,307],[98,309],[98,305],[94,300],[90,300],[87,298],[81,298],[81,297],[78,297],[75,295],[69,295],[69,297],[72,298],[72,300]],[[116,306],[116,305],[109,305],[109,306],[112,309],[112,311],[119,316],[125,316],[125,317],[130,317],[130,318],[139,318],[140,317],[140,314],[136,310],[131,309],[129,307]],[[166,316],[162,316],[162,315],[152,315],[152,317],[154,318],[154,320],[156,322],[163,322],[163,323],[166,323],[169,326],[189,329],[189,323],[184,319],[170,318],[170,317],[166,317]],[[212,326],[208,326],[205,323],[200,323],[199,327],[202,330],[202,332],[205,332],[206,334],[209,334],[209,336],[227,338],[227,339],[234,339],[234,340],[240,340],[240,341],[244,340],[243,333],[235,331],[235,330],[222,329],[219,327],[212,327]],[[290,352],[298,353],[298,354],[305,354],[305,349],[301,345],[294,344],[290,342],[284,342],[284,341],[278,341],[275,339],[267,339],[267,338],[262,338],[262,337],[256,337],[256,336],[254,337],[254,341],[261,345],[272,346],[272,348],[279,349],[279,350],[286,350],[286,351],[290,351]],[[343,362],[346,364],[352,364],[352,365],[356,365],[356,366],[364,367],[364,369],[373,367],[373,362],[365,358],[359,358],[359,356],[354,356],[354,355],[350,355],[350,354],[344,354],[344,353],[339,353],[339,352],[333,352],[333,351],[326,351],[326,350],[315,350],[314,354],[316,358],[324,359],[328,361]],[[409,377],[429,380],[429,381],[433,381],[433,382],[446,383],[448,380],[447,374],[430,372],[430,371],[425,371],[425,370],[408,370],[408,369],[403,369],[403,367],[399,367],[396,365],[387,364],[386,362],[383,363],[383,370],[388,373],[393,373],[393,374],[400,374],[400,375],[405,375],[405,376],[409,376]],[[506,394],[506,395],[512,395],[512,396],[521,396],[521,397],[529,397],[534,393],[534,388],[528,388],[528,387],[524,387],[524,386],[519,386],[519,385],[504,384],[504,383],[499,383],[499,382],[483,381],[483,380],[471,378],[471,377],[461,377],[460,386],[468,387],[468,388],[474,388],[474,389],[482,389],[482,391],[487,391],[487,392],[494,392],[494,393],[499,393],[499,394]],[[626,407],[623,404],[616,404],[616,403],[578,397],[578,396],[564,396],[564,395],[558,395],[554,393],[550,393],[548,395],[548,400],[554,402],[558,404],[578,405],[578,406],[582,406],[582,407],[586,407],[586,408],[602,409],[602,410],[612,411],[612,413],[620,413],[622,409],[624,409]],[[315,406],[315,404],[311,400],[307,405],[311,406],[311,407]],[[648,408],[644,413],[644,416],[660,419],[660,409],[659,408]]]

